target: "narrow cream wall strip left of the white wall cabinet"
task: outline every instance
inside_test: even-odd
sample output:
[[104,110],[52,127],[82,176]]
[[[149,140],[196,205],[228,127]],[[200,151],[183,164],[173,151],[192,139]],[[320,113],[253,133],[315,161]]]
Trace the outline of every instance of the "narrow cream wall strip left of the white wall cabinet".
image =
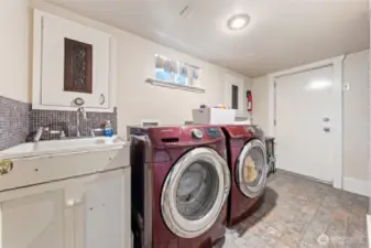
[[30,26],[28,1],[0,1],[0,96],[31,100]]

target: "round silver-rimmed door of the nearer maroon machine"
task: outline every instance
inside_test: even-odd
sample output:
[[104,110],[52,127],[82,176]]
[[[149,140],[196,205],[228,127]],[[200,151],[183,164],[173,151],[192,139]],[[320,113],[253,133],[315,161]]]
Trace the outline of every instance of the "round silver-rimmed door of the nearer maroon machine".
[[227,162],[212,149],[196,148],[166,177],[161,195],[164,222],[179,237],[197,237],[218,219],[229,190]]

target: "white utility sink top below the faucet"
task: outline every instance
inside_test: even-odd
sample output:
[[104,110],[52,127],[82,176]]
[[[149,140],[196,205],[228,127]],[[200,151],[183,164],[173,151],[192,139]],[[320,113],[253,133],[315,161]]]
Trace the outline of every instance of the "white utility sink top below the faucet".
[[29,142],[0,151],[0,159],[120,149],[126,143],[118,136]]

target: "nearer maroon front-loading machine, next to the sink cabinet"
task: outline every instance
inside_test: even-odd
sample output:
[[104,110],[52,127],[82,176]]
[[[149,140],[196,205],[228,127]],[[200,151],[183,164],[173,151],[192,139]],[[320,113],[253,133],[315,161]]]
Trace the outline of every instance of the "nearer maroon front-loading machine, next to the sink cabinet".
[[135,246],[209,248],[223,238],[230,173],[221,128],[132,127],[130,133]]

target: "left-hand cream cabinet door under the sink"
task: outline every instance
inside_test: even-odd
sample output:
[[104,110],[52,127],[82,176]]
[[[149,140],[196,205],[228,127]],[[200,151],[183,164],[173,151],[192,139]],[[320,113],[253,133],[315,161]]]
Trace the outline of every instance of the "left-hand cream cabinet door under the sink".
[[70,247],[64,190],[45,191],[47,187],[36,186],[0,194],[0,247]]

